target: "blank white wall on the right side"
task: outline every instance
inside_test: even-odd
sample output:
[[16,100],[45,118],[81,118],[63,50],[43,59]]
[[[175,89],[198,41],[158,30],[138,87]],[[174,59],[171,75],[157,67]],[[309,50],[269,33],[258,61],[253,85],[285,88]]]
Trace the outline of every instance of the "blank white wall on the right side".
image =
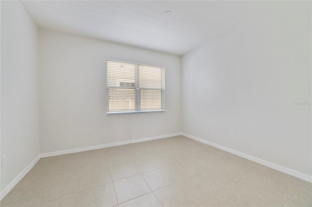
[[182,131],[311,175],[311,55],[311,1],[272,2],[182,57]]

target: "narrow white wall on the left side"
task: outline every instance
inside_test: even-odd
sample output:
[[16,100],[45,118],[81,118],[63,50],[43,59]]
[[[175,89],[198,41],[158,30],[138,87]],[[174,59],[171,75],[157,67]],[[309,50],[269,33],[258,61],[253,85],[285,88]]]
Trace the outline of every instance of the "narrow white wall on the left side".
[[40,153],[37,35],[20,1],[1,1],[1,190]]

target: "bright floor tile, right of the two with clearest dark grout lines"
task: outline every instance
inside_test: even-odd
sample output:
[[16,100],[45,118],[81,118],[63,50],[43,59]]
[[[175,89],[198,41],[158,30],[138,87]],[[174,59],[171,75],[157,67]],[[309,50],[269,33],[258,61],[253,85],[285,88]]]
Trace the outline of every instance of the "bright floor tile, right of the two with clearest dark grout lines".
[[176,181],[165,167],[143,173],[142,176],[152,190],[162,188]]

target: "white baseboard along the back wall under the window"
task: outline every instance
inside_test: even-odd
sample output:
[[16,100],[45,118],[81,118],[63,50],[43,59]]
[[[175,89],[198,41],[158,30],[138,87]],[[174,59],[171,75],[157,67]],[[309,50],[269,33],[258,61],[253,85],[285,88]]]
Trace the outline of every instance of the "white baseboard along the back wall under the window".
[[102,149],[102,148],[107,148],[107,147],[115,147],[115,146],[137,143],[137,142],[142,142],[142,141],[150,141],[150,140],[160,139],[160,138],[175,137],[181,134],[182,133],[174,133],[174,134],[161,135],[161,136],[150,137],[150,138],[139,138],[139,139],[132,139],[132,140],[127,140],[127,141],[119,141],[119,142],[114,142],[114,143],[109,143],[109,144],[99,144],[99,145],[90,146],[90,147],[81,147],[81,148],[70,149],[70,150],[62,150],[62,151],[51,152],[51,153],[42,153],[40,157],[49,157],[49,156],[56,156],[56,155],[79,153],[79,152],[84,152],[84,151],[89,151],[89,150],[97,150],[97,149]]

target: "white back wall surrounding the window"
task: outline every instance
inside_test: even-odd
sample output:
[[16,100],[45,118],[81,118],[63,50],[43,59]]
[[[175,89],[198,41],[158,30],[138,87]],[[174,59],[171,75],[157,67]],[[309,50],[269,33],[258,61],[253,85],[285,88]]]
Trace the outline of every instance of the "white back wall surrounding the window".
[[[106,58],[165,67],[166,112],[106,115]],[[41,153],[181,131],[176,55],[40,29],[39,68]]]

